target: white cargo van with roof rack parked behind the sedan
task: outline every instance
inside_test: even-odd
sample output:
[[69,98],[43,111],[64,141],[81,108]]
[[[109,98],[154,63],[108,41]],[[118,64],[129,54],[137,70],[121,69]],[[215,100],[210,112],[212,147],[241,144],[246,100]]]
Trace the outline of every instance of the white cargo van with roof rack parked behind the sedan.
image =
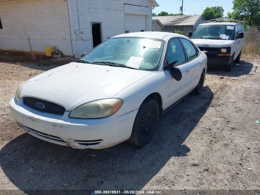
[[198,25],[189,36],[208,57],[208,66],[225,66],[231,71],[233,61],[239,62],[244,43],[244,27],[234,22],[211,22]]

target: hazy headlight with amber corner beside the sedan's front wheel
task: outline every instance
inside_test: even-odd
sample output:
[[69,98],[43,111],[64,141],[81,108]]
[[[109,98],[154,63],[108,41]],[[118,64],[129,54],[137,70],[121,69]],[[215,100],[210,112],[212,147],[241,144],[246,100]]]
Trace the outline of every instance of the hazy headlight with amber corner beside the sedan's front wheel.
[[70,112],[69,117],[78,119],[104,118],[117,112],[122,104],[123,100],[119,98],[95,100],[78,106]]

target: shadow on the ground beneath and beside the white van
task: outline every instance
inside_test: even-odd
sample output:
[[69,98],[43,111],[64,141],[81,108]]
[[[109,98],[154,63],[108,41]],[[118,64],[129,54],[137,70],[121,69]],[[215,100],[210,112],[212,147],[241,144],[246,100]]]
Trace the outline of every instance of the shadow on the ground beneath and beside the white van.
[[239,63],[233,63],[232,69],[230,72],[224,71],[223,67],[208,67],[207,74],[209,75],[219,75],[219,76],[230,76],[230,77],[238,77],[242,75],[250,75],[254,74],[255,69],[253,68],[253,64],[240,61]]

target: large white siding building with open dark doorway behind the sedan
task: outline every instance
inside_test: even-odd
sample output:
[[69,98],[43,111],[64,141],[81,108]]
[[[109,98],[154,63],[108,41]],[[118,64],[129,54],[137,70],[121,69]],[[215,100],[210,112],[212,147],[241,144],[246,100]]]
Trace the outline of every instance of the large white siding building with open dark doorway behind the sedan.
[[0,50],[56,46],[78,58],[114,35],[151,31],[156,6],[155,0],[0,0]]

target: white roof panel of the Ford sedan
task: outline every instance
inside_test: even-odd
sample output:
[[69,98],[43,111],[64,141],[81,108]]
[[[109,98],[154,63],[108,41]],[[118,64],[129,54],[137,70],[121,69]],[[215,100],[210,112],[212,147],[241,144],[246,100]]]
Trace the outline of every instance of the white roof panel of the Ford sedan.
[[[133,32],[133,33],[116,35],[112,38],[115,38],[115,37],[145,37],[145,38],[153,38],[153,39],[163,39],[164,37],[166,37],[168,35],[179,36],[179,34],[176,34],[176,33],[146,31],[146,32]],[[182,37],[182,35],[180,35],[180,37]]]

